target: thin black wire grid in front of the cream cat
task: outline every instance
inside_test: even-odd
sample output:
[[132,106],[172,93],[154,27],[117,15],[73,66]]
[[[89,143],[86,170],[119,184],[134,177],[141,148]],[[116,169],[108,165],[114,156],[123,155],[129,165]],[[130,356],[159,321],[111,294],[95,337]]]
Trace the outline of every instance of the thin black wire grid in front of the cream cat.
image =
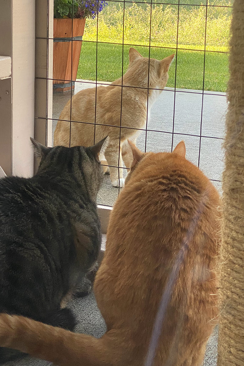
[[[163,131],[163,130],[150,130],[147,128],[147,125],[148,125],[148,116],[146,117],[146,127],[145,128],[141,128],[138,130],[140,131],[145,131],[145,134],[146,134],[146,137],[145,137],[145,152],[146,152],[146,145],[147,145],[147,132],[162,132],[162,133],[167,133],[167,134],[171,134],[172,135],[172,143],[171,143],[171,151],[173,150],[173,141],[174,141],[174,135],[185,135],[185,136],[193,136],[193,137],[199,137],[199,153],[198,153],[198,167],[199,167],[199,164],[200,164],[200,152],[201,152],[201,139],[203,137],[206,137],[206,138],[212,138],[212,139],[219,139],[219,140],[222,140],[223,138],[221,137],[214,137],[214,136],[205,136],[205,135],[202,135],[202,121],[203,121],[203,100],[204,100],[204,95],[213,95],[213,96],[225,96],[225,94],[221,94],[221,93],[212,93],[212,92],[209,92],[207,91],[204,92],[204,79],[205,79],[205,61],[206,61],[206,53],[208,52],[214,52],[214,53],[228,53],[228,52],[223,52],[223,51],[209,51],[206,49],[206,36],[207,36],[207,15],[208,15],[208,9],[210,7],[221,7],[221,8],[232,8],[231,6],[229,5],[214,5],[214,4],[210,4],[209,1],[210,0],[203,0],[204,2],[206,1],[206,4],[185,4],[185,3],[180,3],[180,1],[182,0],[175,0],[176,2],[175,3],[172,3],[172,2],[155,2],[155,1],[150,1],[150,2],[147,2],[147,1],[135,1],[136,4],[149,4],[150,5],[150,29],[149,29],[149,45],[143,45],[144,47],[148,47],[149,48],[149,59],[150,59],[150,49],[151,49],[151,14],[152,14],[152,6],[154,4],[157,4],[157,5],[160,5],[160,4],[163,4],[163,5],[174,5],[174,6],[177,6],[178,8],[178,14],[177,14],[177,34],[176,34],[176,47],[161,47],[161,46],[155,46],[153,45],[153,48],[163,48],[163,49],[174,49],[175,50],[175,76],[174,76],[174,88],[172,89],[167,89],[165,88],[165,90],[167,91],[171,91],[174,93],[174,100],[173,100],[173,122],[172,122],[172,131],[169,132],[169,131]],[[97,65],[98,65],[98,44],[114,44],[114,45],[122,45],[122,63],[121,63],[121,76],[122,76],[122,86],[121,85],[118,85],[118,86],[121,86],[121,113],[120,113],[120,126],[112,126],[112,127],[117,127],[117,128],[120,128],[120,133],[121,133],[121,128],[131,128],[131,129],[134,129],[134,127],[123,127],[121,126],[121,116],[122,116],[122,95],[123,95],[123,88],[124,87],[131,87],[131,86],[123,86],[123,70],[124,70],[124,46],[142,46],[142,45],[138,45],[138,44],[127,44],[124,42],[124,20],[125,20],[125,4],[126,3],[132,3],[133,1],[130,1],[130,0],[109,0],[109,2],[117,2],[117,3],[122,3],[123,4],[123,35],[122,35],[122,43],[116,43],[116,42],[102,42],[102,41],[98,41],[98,19],[99,19],[99,12],[97,11],[97,40],[96,41],[89,41],[89,40],[86,40],[86,41],[82,41],[82,42],[95,42],[96,43],[96,78],[95,78],[95,81],[94,82],[91,82],[91,81],[82,81],[82,83],[94,83],[95,85],[95,88],[96,88],[96,92],[95,92],[95,111],[96,111],[96,108],[97,108],[97,86],[99,85],[108,85],[109,83],[106,83],[106,82],[101,82],[101,81],[98,81],[97,80]],[[197,1],[196,1],[197,2]],[[179,45],[178,45],[178,32],[179,32],[179,14],[180,14],[180,7],[182,5],[187,5],[188,7],[205,7],[206,8],[206,13],[205,13],[205,36],[204,36],[204,49],[190,49],[190,48],[181,48]],[[47,19],[49,19],[49,12],[50,12],[50,6],[53,6],[52,4],[52,1],[49,1],[47,0]],[[99,5],[98,5],[99,6]],[[72,11],[72,14],[74,15],[74,2],[73,2],[73,11]],[[48,23],[48,28],[47,28],[47,37],[46,38],[43,38],[43,37],[37,37],[39,39],[46,39],[47,40],[47,55],[49,55],[49,52],[48,52],[48,47],[49,47],[49,42],[48,40],[52,40],[53,38],[50,38],[48,37],[49,35],[49,23]],[[73,40],[73,17],[72,17],[72,34],[71,34],[71,37],[72,37],[72,40],[71,40],[71,55],[73,54],[73,42],[76,42],[76,40]],[[175,105],[176,105],[176,93],[179,92],[179,90],[176,90],[176,77],[177,77],[177,56],[178,56],[178,51],[179,50],[187,50],[187,51],[199,51],[199,52],[203,52],[204,53],[204,59],[203,59],[203,85],[202,85],[202,90],[201,91],[189,91],[189,90],[180,90],[180,93],[191,93],[191,94],[200,94],[202,95],[202,102],[201,102],[201,117],[200,117],[200,134],[190,134],[190,133],[182,133],[182,132],[175,132],[174,131],[174,121],[175,121]],[[49,60],[47,60],[47,63],[49,62]],[[150,63],[149,63],[149,66],[150,66]],[[47,90],[48,90],[48,80],[53,80],[53,79],[50,79],[48,78],[48,70],[47,70],[47,74],[46,74],[46,78],[38,78],[38,79],[45,79],[46,80],[46,87],[47,87]],[[59,79],[55,79],[55,80],[59,80]],[[71,57],[71,80],[60,80],[60,81],[63,81],[63,82],[70,82],[71,85],[72,85],[72,82],[74,82],[75,80],[73,80],[73,77],[72,77],[72,57]],[[133,88],[135,88],[135,86],[133,86]],[[138,87],[139,88],[139,87]],[[144,87],[142,89],[145,89]],[[149,100],[149,90],[153,90],[152,88],[149,88],[149,72],[148,72],[148,83],[147,83],[147,103],[148,103],[148,100]],[[157,89],[158,90],[158,89]],[[70,119],[68,120],[68,122],[70,122],[70,137],[71,137],[71,122],[75,122],[75,123],[84,123],[84,122],[77,122],[77,121],[72,121],[71,120],[71,109],[72,109],[72,89],[70,91],[67,91],[65,93],[70,93],[70,98],[71,98],[71,108],[70,108]],[[45,121],[46,121],[46,132],[47,132],[47,122],[48,120],[53,120],[52,118],[48,118],[47,117],[47,111],[48,111],[48,97],[47,97],[47,101],[46,101],[46,105],[47,105],[47,108],[46,108],[46,118],[45,118]],[[38,117],[36,116],[37,118],[41,118],[41,117]],[[96,113],[95,113],[95,120],[94,121],[91,121],[90,124],[93,124],[94,125],[94,143],[95,143],[95,128],[96,128],[96,125],[99,125],[100,123],[97,123],[96,121]],[[109,125],[108,125],[109,126]],[[70,138],[70,141],[71,141],[71,138]],[[47,139],[46,139],[46,143],[47,143]],[[119,147],[120,148],[120,147]],[[119,160],[118,160],[118,165],[116,166],[118,168],[118,171],[119,171],[119,168],[123,168],[123,169],[126,169],[125,167],[119,167]],[[119,177],[120,178],[120,177]],[[210,179],[214,182],[221,182],[221,180],[217,180],[217,179]],[[112,188],[111,186],[111,189],[115,189],[115,188]],[[119,188],[120,190],[120,188]],[[118,190],[118,191],[119,191]],[[106,204],[103,203],[105,206]]]

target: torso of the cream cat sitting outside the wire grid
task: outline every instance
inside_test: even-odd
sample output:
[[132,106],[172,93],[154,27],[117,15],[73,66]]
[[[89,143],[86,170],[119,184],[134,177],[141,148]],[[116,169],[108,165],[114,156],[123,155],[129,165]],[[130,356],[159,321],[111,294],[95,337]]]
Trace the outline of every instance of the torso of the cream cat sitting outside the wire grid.
[[[131,125],[138,124],[138,127],[142,128],[146,123],[145,96],[140,91],[135,93],[136,88],[125,87],[121,100],[119,82],[120,79],[115,81],[115,85],[98,86],[97,90],[93,87],[75,94],[72,100],[67,102],[59,116],[54,132],[54,146],[69,146],[70,137],[71,146],[92,145],[94,124],[97,124],[95,141],[99,141],[101,136],[103,138],[107,134],[110,134],[110,139],[117,138],[118,129],[113,128],[113,126],[130,128],[130,130],[121,130],[121,141],[126,138],[128,131],[130,134],[137,132],[137,130],[131,129]],[[70,109],[70,104],[72,109]],[[121,113],[121,107],[123,113]],[[133,115],[131,111],[134,112]],[[138,115],[141,116],[139,120]],[[70,119],[77,121],[77,123],[71,122],[71,133]]]

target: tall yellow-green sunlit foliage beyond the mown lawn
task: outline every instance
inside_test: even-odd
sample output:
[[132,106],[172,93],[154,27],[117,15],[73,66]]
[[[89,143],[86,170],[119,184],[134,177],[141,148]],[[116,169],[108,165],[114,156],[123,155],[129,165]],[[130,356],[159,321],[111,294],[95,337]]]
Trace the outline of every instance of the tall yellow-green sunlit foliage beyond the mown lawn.
[[[205,1],[206,3],[206,1]],[[230,5],[230,1],[222,0]],[[219,2],[218,2],[219,5]],[[124,13],[124,43],[149,45],[150,16],[152,46],[176,46],[178,5],[115,3],[110,1],[99,15],[98,41],[122,43]],[[181,5],[179,7],[178,45],[198,46],[204,49],[206,7]],[[206,46],[227,47],[231,8],[207,8]],[[84,40],[97,40],[97,22],[87,21]]]

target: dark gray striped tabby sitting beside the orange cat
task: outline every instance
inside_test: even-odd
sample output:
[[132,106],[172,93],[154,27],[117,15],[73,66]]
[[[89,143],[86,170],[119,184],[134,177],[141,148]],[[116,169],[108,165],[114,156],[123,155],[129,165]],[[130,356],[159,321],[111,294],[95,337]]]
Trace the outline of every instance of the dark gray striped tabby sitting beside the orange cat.
[[[70,148],[31,139],[41,157],[37,174],[0,180],[0,313],[74,328],[65,300],[91,288],[86,274],[101,246],[96,199],[105,139]],[[20,356],[0,348],[0,363]]]

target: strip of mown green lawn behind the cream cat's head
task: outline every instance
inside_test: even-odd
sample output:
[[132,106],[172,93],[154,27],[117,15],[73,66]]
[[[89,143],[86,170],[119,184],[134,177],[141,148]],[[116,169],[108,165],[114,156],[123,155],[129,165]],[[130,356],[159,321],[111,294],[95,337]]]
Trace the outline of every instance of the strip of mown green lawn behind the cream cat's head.
[[[144,57],[148,57],[149,48],[135,47]],[[188,48],[190,46],[188,45]],[[193,48],[193,47],[192,47]],[[96,49],[97,49],[97,80],[114,81],[122,75],[122,45],[109,43],[83,42],[77,78],[96,79]],[[129,63],[129,46],[124,46],[124,71]],[[163,59],[175,53],[175,49],[151,47],[150,57]],[[204,52],[178,51],[176,87],[183,89],[203,89]],[[168,87],[174,87],[176,64],[175,59],[169,71]],[[226,91],[229,78],[228,55],[225,53],[206,52],[204,90]]]

